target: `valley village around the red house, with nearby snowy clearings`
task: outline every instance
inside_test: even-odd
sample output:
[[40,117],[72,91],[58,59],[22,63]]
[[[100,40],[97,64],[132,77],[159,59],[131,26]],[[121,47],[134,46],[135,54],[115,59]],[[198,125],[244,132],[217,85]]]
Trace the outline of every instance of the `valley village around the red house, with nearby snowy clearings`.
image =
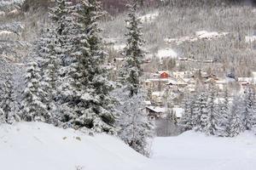
[[[147,15],[148,16],[148,15]],[[154,14],[155,17],[155,14]],[[153,19],[154,19],[153,17]],[[150,20],[152,18],[149,18]],[[180,45],[183,42],[212,41],[214,38],[224,37],[227,32],[196,31],[195,37],[166,38],[167,45]],[[256,40],[255,36],[245,37],[246,43]],[[115,58],[110,60],[113,80],[118,79],[124,58],[122,50],[125,44],[107,41],[108,48]],[[250,77],[236,77],[234,72],[220,76],[216,67],[218,62],[213,59],[198,60],[195,57],[179,56],[172,48],[162,48],[156,54],[147,53],[143,59],[142,87],[147,91],[146,112],[148,119],[156,123],[157,136],[172,136],[182,132],[179,122],[184,114],[185,99],[196,93],[196,89],[216,87],[218,94],[224,94],[229,89],[230,100],[233,94],[243,94],[248,86],[256,84],[256,72]],[[218,72],[216,74],[214,71]],[[215,102],[222,100],[221,97]]]

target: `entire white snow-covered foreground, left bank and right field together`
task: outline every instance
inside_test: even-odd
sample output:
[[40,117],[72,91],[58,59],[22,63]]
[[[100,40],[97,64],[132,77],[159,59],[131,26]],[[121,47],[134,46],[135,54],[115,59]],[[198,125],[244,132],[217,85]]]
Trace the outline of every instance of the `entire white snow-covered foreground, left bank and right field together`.
[[0,162],[4,170],[254,170],[256,136],[217,138],[190,131],[156,138],[148,159],[108,135],[22,122],[0,126]]

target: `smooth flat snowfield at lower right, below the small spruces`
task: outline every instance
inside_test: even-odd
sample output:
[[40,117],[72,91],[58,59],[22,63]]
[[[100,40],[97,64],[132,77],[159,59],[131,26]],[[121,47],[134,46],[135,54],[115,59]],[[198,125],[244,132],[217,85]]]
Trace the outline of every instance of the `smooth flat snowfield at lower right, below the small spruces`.
[[159,170],[254,170],[256,136],[246,132],[236,138],[208,137],[187,132],[154,140],[154,162]]

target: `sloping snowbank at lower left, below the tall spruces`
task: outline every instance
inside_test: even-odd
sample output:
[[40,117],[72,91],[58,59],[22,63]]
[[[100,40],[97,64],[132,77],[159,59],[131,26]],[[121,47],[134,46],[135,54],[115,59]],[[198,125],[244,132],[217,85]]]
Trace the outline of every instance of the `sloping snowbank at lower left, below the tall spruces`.
[[90,137],[44,123],[0,126],[4,170],[136,170],[147,161],[108,135]]

